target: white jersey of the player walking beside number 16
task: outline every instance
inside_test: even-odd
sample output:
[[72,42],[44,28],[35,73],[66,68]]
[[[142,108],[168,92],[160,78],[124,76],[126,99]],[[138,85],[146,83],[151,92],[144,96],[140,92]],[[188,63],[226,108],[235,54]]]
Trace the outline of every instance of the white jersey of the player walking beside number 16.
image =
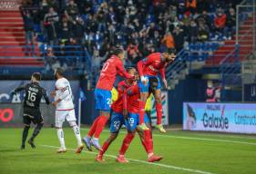
[[[63,98],[65,96],[65,98]],[[72,90],[70,83],[66,78],[60,78],[56,81],[56,100],[59,98],[63,98],[60,102],[58,102],[56,106],[56,110],[71,110],[74,109],[74,103],[72,100]]]

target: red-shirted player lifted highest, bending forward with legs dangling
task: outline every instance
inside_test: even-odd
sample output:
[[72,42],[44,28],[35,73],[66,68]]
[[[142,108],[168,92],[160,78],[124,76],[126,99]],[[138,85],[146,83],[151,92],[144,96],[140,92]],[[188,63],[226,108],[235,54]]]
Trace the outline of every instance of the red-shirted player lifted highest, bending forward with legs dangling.
[[139,128],[145,130],[144,123],[144,108],[146,101],[148,99],[148,80],[150,78],[157,77],[158,86],[156,91],[153,93],[156,101],[156,110],[157,110],[157,126],[161,132],[166,132],[162,126],[162,101],[161,101],[161,84],[159,81],[158,74],[160,73],[162,81],[164,82],[165,87],[168,87],[166,77],[165,77],[165,68],[169,63],[172,63],[175,59],[175,49],[168,49],[164,53],[151,53],[145,59],[138,62],[138,73],[140,76],[140,82],[138,86],[141,92],[140,102],[139,102]]

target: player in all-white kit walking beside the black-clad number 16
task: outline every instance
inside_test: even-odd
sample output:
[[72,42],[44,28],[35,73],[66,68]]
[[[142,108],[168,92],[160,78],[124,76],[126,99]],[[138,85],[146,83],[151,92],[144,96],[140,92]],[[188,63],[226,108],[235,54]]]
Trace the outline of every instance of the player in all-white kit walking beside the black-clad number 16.
[[57,150],[57,153],[66,152],[67,148],[64,140],[64,131],[62,129],[63,122],[68,121],[70,127],[73,128],[73,131],[77,138],[77,150],[76,153],[80,153],[84,145],[81,141],[80,130],[77,126],[77,119],[74,110],[74,103],[72,101],[72,91],[69,82],[63,76],[63,70],[57,68],[55,72],[56,78],[56,91],[52,92],[52,96],[55,97],[55,102],[53,102],[56,107],[56,130],[57,138],[60,142],[60,148]]

